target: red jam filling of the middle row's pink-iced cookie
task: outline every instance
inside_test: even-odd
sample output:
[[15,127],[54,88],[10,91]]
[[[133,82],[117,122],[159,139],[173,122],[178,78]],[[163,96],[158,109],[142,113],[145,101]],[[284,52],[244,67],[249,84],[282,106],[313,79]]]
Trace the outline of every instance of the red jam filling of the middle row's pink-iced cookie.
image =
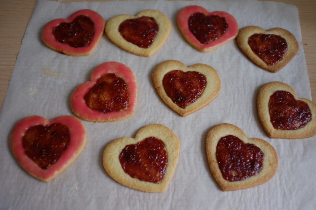
[[126,110],[129,95],[124,79],[107,73],[97,80],[83,98],[92,110],[107,113]]

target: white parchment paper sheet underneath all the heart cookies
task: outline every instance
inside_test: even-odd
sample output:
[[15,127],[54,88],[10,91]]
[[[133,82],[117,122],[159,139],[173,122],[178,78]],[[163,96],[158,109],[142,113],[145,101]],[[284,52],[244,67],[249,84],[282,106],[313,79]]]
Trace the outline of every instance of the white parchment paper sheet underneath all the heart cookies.
[[[239,27],[281,27],[292,32],[300,44],[295,58],[278,73],[256,67],[239,50],[235,40],[214,51],[201,53],[185,42],[176,15],[187,5],[209,11],[223,10],[236,18]],[[105,20],[114,15],[136,15],[144,9],[163,12],[172,23],[166,43],[151,57],[128,53],[105,35],[89,56],[72,57],[48,49],[40,39],[50,20],[68,18],[79,9],[93,9]],[[151,81],[157,64],[174,59],[187,66],[205,63],[221,78],[219,96],[205,108],[180,117],[160,99]],[[130,67],[137,80],[138,98],[132,117],[111,123],[82,120],[87,146],[63,173],[49,183],[30,176],[15,160],[9,135],[15,123],[30,115],[52,119],[73,115],[70,95],[90,79],[95,67],[118,61]],[[282,81],[299,97],[311,99],[303,52],[298,10],[293,5],[257,1],[113,1],[59,3],[38,1],[28,23],[21,50],[0,115],[0,208],[1,209],[314,209],[316,138],[270,139],[258,122],[256,102],[261,85]],[[74,116],[74,115],[73,115]],[[102,165],[108,143],[119,137],[135,137],[145,125],[160,123],[180,140],[175,173],[163,193],[144,193],[110,178]],[[279,167],[266,184],[245,190],[222,192],[207,164],[205,138],[211,127],[231,123],[248,138],[257,137],[275,147]]]

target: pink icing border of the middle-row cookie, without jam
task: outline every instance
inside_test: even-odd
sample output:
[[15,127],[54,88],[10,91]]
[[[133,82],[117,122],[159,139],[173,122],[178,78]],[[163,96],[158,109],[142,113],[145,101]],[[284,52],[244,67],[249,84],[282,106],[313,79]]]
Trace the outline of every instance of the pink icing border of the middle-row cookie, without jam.
[[[83,97],[88,90],[96,84],[97,79],[106,73],[115,73],[118,77],[124,79],[129,90],[129,106],[122,112],[102,113],[97,110],[91,110],[85,103]],[[122,63],[109,61],[96,67],[91,74],[91,80],[79,85],[72,93],[70,104],[73,112],[80,118],[89,121],[115,121],[121,120],[134,113],[137,99],[137,85],[132,70]]]

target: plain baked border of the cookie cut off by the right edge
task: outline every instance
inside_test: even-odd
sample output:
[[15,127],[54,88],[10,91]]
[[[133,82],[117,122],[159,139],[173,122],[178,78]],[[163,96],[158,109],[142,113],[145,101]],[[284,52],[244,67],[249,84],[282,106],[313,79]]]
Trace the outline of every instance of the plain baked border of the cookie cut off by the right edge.
[[[304,127],[296,130],[276,130],[270,121],[268,104],[270,96],[277,90],[290,92],[296,100],[306,102],[311,110],[312,120]],[[257,109],[259,122],[270,138],[308,138],[316,135],[316,104],[308,99],[298,98],[293,88],[283,82],[270,82],[260,88],[257,98]]]

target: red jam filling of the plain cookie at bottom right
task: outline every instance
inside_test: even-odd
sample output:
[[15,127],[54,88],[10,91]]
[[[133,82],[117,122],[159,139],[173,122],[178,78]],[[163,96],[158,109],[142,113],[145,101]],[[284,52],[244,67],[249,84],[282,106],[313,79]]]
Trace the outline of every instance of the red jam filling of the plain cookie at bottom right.
[[222,137],[216,146],[216,158],[223,178],[230,182],[244,180],[262,170],[264,153],[256,145],[238,137]]

